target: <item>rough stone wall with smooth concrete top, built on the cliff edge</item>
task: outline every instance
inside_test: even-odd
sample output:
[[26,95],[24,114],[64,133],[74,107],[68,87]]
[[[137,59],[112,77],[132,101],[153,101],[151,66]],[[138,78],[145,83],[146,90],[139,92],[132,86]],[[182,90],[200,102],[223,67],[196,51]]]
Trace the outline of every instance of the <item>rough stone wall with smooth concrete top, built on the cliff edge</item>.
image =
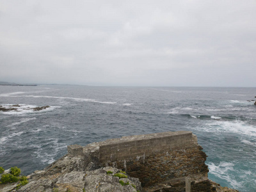
[[[193,182],[199,177],[207,178],[209,172],[206,155],[189,131],[126,136],[89,144],[83,148],[84,153],[88,151],[93,152],[101,166],[121,168],[131,177],[139,178],[145,189],[165,183],[169,188],[162,191],[184,191],[185,177]],[[68,153],[80,156],[81,148],[69,148]],[[193,182],[191,187],[198,190],[200,183],[204,183],[203,189],[207,191],[207,182],[208,179]]]

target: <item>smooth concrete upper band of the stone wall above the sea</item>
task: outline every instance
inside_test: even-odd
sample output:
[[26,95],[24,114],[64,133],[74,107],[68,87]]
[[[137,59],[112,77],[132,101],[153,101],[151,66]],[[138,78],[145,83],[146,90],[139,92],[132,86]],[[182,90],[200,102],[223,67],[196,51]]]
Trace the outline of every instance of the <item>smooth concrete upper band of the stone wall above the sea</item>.
[[100,145],[100,162],[152,156],[169,150],[196,146],[192,132],[161,132],[107,140]]

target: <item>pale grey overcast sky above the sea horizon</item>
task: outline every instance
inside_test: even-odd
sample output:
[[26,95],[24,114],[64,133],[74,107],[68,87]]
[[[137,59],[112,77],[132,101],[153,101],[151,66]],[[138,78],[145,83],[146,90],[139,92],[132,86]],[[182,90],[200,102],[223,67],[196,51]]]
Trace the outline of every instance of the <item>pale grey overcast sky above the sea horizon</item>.
[[256,1],[0,0],[0,81],[256,86]]

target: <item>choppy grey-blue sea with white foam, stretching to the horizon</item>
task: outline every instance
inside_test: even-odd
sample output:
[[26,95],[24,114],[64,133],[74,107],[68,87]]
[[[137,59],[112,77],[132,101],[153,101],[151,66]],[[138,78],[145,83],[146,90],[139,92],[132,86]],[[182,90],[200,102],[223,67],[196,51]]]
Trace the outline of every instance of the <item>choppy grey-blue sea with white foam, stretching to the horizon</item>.
[[[0,166],[24,174],[67,154],[67,145],[164,131],[192,131],[209,179],[256,191],[256,88],[0,86]],[[51,106],[42,111],[28,108]]]

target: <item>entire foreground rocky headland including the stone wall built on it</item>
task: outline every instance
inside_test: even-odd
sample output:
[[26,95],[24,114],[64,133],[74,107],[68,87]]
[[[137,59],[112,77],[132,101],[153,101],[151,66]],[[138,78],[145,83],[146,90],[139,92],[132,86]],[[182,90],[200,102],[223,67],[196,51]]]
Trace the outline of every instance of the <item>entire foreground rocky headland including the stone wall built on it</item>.
[[[180,141],[184,142],[184,139],[187,140],[188,145],[180,143]],[[148,143],[147,148],[153,151],[153,156],[147,152],[147,149],[141,148],[141,144],[144,145],[145,142]],[[154,142],[161,145],[161,150],[158,150]],[[165,149],[163,150],[164,145],[172,147],[172,150],[165,152]],[[191,145],[197,149],[193,150]],[[123,150],[124,148],[125,150]],[[138,148],[141,149],[138,150]],[[18,182],[0,184],[0,191],[237,192],[236,189],[223,188],[220,184],[208,179],[207,172],[209,170],[204,163],[205,160],[203,162],[201,160],[201,156],[205,159],[206,155],[201,149],[196,136],[185,131],[127,136],[91,143],[86,147],[70,145],[67,155],[50,164],[44,170],[35,171],[28,175],[28,184],[19,189],[17,188]],[[114,157],[113,152],[120,153],[115,153],[116,157]],[[140,156],[140,152],[144,155]],[[127,155],[122,156],[124,153]],[[132,159],[132,155],[129,153],[135,153],[135,159]],[[104,154],[107,154],[108,159],[105,160],[106,155]],[[152,157],[156,159],[155,162],[150,160]],[[169,161],[168,157],[176,159],[177,163]],[[198,159],[198,161],[193,159]],[[194,163],[191,164],[190,161]],[[166,162],[169,163],[166,164]],[[150,173],[147,173],[148,168],[150,168]],[[133,175],[138,175],[138,178]],[[148,175],[152,176],[148,177]]]

